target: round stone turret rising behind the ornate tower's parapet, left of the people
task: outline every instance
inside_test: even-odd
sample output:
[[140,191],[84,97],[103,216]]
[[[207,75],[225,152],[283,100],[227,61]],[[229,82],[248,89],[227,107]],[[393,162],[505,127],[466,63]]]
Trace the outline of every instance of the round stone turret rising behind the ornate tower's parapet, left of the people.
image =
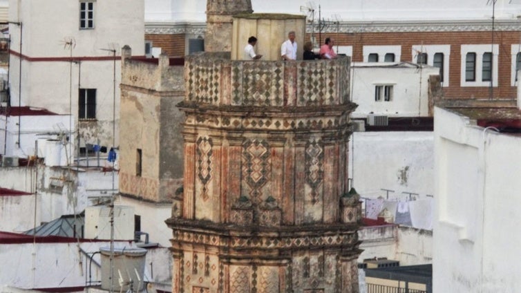
[[229,52],[233,15],[252,12],[250,0],[208,0],[205,51]]

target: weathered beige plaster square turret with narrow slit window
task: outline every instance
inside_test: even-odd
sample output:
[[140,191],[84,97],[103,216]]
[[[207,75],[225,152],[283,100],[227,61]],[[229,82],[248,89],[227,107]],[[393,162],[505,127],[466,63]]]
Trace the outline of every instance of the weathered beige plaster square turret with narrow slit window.
[[[130,48],[126,48],[130,56]],[[184,98],[182,66],[125,59],[122,70],[120,191],[153,202],[171,202],[182,185],[183,144],[176,104]],[[137,175],[138,151],[142,173]]]

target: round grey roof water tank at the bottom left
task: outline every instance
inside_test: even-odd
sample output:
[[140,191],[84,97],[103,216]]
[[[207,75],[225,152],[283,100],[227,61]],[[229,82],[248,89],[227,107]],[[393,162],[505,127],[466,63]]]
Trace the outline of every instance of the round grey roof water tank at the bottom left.
[[[100,247],[102,255],[102,289],[111,290],[111,249]],[[132,292],[144,289],[144,264],[146,249],[139,247],[113,249],[113,282],[114,291]]]

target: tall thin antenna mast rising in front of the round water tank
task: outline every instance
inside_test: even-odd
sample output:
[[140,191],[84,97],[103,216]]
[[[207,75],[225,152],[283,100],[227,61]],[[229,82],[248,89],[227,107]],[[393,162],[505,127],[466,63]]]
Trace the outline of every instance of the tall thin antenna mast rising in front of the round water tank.
[[[101,48],[100,50],[108,51],[112,53],[113,57],[113,112],[112,112],[112,147],[115,147],[115,137],[116,137],[116,49],[115,44],[110,44],[111,48]],[[112,196],[111,203],[109,205],[111,211],[111,256],[110,256],[110,264],[111,264],[111,290],[110,292],[114,292],[114,162],[112,162]]]

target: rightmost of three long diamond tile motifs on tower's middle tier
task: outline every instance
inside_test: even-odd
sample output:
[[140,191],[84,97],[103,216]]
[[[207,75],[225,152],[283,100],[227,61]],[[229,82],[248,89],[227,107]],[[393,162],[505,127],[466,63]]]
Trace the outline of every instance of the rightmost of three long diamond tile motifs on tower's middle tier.
[[305,146],[305,180],[311,187],[312,204],[318,201],[317,189],[324,178],[324,151],[321,140],[310,139]]

